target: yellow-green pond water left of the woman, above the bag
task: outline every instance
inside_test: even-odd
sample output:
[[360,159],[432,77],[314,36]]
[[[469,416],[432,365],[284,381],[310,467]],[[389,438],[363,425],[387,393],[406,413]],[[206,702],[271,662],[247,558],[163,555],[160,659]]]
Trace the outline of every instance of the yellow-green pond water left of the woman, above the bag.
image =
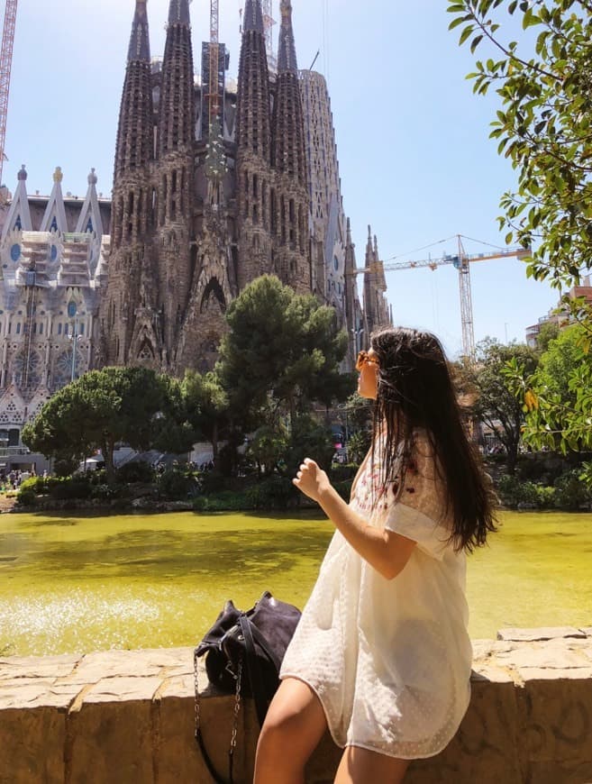
[[330,526],[247,515],[0,518],[0,653],[194,645],[233,598],[305,603]]

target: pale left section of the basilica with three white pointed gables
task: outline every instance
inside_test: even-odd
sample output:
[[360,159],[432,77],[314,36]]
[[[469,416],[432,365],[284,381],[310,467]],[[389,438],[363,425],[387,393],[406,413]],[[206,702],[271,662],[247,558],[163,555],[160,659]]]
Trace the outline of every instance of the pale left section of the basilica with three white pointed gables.
[[62,193],[29,196],[27,172],[14,197],[0,192],[0,448],[18,451],[23,424],[59,387],[91,367],[109,253],[110,200]]

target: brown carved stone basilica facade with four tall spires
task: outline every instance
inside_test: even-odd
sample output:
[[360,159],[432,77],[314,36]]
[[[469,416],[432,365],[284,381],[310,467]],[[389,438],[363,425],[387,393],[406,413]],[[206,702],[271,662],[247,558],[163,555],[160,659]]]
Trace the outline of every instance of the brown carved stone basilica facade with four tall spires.
[[[314,291],[336,307],[342,326],[360,333],[357,322],[345,322],[347,287],[352,301],[358,296],[355,275],[344,274],[345,216],[326,86],[299,73],[292,5],[281,0],[280,8],[278,66],[270,71],[260,0],[246,0],[233,92],[223,44],[203,45],[202,81],[194,85],[188,0],[171,0],[158,65],[150,59],[147,5],[137,0],[97,365],[142,363],[179,375],[212,367],[230,301],[266,273],[297,293]],[[307,86],[320,83],[322,101],[305,111]],[[315,145],[306,142],[313,123],[323,126]],[[320,228],[312,220],[318,166],[311,156],[320,160],[322,152],[330,163]]]

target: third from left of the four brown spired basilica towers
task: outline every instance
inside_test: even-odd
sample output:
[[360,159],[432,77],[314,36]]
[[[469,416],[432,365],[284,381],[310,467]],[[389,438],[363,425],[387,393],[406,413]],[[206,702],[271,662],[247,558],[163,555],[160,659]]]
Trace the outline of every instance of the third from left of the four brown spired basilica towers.
[[260,0],[247,0],[236,120],[239,288],[274,271],[271,231],[276,193],[271,169],[271,98],[265,46]]

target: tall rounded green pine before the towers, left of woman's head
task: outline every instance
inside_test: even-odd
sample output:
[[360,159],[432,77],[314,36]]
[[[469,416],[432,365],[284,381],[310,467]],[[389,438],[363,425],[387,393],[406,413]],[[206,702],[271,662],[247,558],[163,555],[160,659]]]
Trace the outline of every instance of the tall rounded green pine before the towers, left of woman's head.
[[262,424],[269,408],[285,408],[292,426],[314,401],[329,406],[350,393],[351,377],[344,383],[339,370],[347,335],[314,296],[266,275],[243,289],[226,319],[218,373],[245,426]]

